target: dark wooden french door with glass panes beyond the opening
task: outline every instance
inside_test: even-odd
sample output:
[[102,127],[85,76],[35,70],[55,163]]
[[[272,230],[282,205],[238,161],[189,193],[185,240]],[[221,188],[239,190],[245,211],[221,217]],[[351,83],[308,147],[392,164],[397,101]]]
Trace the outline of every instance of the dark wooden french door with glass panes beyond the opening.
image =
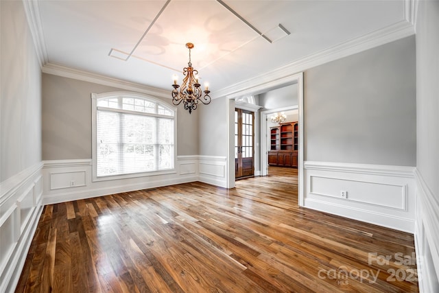
[[235,178],[254,175],[254,113],[235,109]]

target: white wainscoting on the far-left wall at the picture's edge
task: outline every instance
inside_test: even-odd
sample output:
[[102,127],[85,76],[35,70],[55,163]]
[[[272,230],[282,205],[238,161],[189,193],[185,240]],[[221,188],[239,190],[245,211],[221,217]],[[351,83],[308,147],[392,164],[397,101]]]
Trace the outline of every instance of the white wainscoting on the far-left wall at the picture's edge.
[[14,291],[43,211],[42,168],[38,163],[0,185],[0,292]]

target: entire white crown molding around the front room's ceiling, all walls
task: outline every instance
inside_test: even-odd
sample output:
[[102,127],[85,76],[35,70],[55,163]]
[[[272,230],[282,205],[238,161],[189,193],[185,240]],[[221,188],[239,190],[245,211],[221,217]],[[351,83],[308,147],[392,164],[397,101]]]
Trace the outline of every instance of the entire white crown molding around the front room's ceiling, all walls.
[[[358,38],[347,40],[344,43],[335,45],[318,51],[316,54],[305,56],[287,65],[272,69],[266,73],[258,75],[254,78],[238,82],[224,89],[219,89],[215,93],[215,97],[233,98],[244,93],[255,93],[261,89],[268,89],[270,87],[283,86],[285,82],[291,80],[291,76],[305,71],[312,67],[322,65],[333,60],[344,58],[346,56],[372,49],[394,40],[399,40],[407,36],[412,36],[415,33],[416,24],[416,8],[418,0],[403,0],[403,20],[388,27],[383,27],[375,32],[370,32]],[[169,91],[157,89],[152,86],[145,86],[144,84],[137,84],[134,82],[127,82],[117,78],[109,78],[105,75],[90,73],[87,71],[80,71],[64,67],[62,65],[55,65],[49,63],[47,56],[47,49],[45,47],[45,38],[43,33],[43,26],[40,19],[39,1],[23,0],[25,7],[25,14],[27,23],[34,39],[36,52],[40,61],[40,66],[43,73],[60,75],[67,78],[74,78],[76,80],[83,80],[87,82],[94,82],[97,84],[104,84],[108,86],[115,86],[119,89],[126,89],[129,91],[137,91],[154,95],[157,97],[170,98]]]

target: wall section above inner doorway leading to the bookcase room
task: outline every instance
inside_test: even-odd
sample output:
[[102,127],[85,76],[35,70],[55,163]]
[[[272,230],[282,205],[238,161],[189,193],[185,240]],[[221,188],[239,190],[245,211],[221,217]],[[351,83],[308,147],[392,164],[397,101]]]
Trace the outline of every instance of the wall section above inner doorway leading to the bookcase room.
[[297,103],[297,84],[259,94],[261,111],[296,106]]

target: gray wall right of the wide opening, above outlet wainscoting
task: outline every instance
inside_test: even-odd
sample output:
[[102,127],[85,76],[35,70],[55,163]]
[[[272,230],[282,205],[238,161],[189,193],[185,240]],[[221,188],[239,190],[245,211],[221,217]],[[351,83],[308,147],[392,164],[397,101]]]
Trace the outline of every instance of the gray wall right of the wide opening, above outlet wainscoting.
[[305,161],[416,166],[415,37],[305,71]]

